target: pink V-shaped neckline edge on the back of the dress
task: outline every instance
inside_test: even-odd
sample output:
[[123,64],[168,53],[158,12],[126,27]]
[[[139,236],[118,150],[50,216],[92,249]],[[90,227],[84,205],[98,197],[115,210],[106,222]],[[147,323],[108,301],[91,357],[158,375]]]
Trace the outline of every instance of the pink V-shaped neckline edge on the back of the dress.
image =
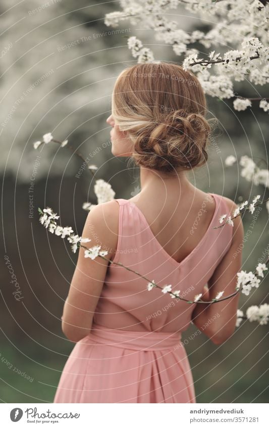
[[150,235],[152,236],[153,241],[156,243],[156,246],[159,248],[160,252],[162,252],[162,254],[164,254],[167,258],[167,260],[171,263],[173,263],[177,268],[181,267],[187,260],[189,260],[191,258],[191,256],[193,256],[196,251],[198,251],[202,245],[202,243],[204,242],[206,236],[208,235],[211,226],[213,224],[214,219],[216,218],[218,209],[219,209],[219,204],[216,198],[216,195],[214,193],[208,193],[209,195],[211,195],[215,201],[215,210],[213,213],[213,216],[210,220],[209,226],[206,229],[202,239],[200,239],[200,241],[198,242],[197,246],[183,259],[181,260],[181,262],[177,262],[172,256],[170,256],[170,254],[167,253],[167,251],[164,249],[164,247],[160,244],[160,242],[157,240],[156,236],[154,235],[154,233],[152,232],[152,230],[150,229],[150,226],[144,216],[144,214],[142,213],[142,211],[140,210],[140,208],[138,208],[138,206],[136,204],[134,204],[132,201],[130,201],[129,199],[125,199],[125,201],[127,201],[127,203],[131,204],[133,207],[135,207],[135,209],[137,210],[138,214],[140,214],[140,217],[143,219],[144,223],[147,225],[148,231],[150,233]]

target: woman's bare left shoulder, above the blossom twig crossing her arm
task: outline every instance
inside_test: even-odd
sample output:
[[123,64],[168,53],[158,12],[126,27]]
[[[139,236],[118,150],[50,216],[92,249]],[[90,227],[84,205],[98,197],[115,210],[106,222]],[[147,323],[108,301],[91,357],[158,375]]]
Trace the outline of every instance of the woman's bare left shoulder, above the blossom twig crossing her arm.
[[119,210],[120,206],[115,200],[96,205],[89,211],[83,230],[85,237],[90,233],[93,245],[101,246],[110,255],[117,248]]

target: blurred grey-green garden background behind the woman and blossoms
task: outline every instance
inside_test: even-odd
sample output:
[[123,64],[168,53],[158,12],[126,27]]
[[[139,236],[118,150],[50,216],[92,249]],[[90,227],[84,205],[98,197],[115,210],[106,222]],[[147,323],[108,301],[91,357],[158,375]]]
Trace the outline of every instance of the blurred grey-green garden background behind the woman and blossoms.
[[[115,198],[129,199],[139,189],[139,170],[127,168],[126,158],[113,157],[110,129],[105,123],[117,75],[136,63],[127,47],[127,37],[140,38],[145,46],[153,48],[156,59],[183,60],[175,56],[172,47],[157,43],[148,29],[121,26],[125,29],[122,34],[102,34],[112,30],[104,25],[104,15],[119,10],[118,2],[81,0],[76,9],[74,2],[55,1],[33,12],[41,5],[44,3],[40,1],[12,4],[8,0],[0,4],[0,400],[8,403],[52,402],[74,346],[62,333],[60,317],[77,255],[63,239],[48,236],[38,222],[37,208],[52,207],[60,214],[62,224],[80,234],[87,216],[83,202],[96,203],[91,174],[85,171],[79,179],[75,176],[81,165],[78,157],[54,143],[41,151],[34,150],[33,142],[47,132],[61,141],[68,138],[84,158],[92,158],[91,163],[99,167],[96,178],[111,183]],[[202,21],[184,15],[178,20],[187,31],[205,29]],[[78,39],[83,41],[75,44]],[[68,43],[71,47],[66,47]],[[203,53],[201,45],[192,47]],[[259,90],[263,94],[264,87]],[[235,91],[242,96],[256,96],[255,88],[245,82],[236,83]],[[227,168],[224,161],[230,154],[238,159],[248,155],[254,161],[263,159],[260,167],[266,167],[268,115],[258,104],[238,112],[232,100],[207,99],[209,110],[220,121],[220,130],[210,144],[207,166],[195,171],[191,181],[204,191],[222,194],[237,203],[257,194],[267,198],[263,186],[253,187],[240,176],[239,167]],[[34,216],[29,218],[29,187],[37,155],[40,165],[34,180]],[[250,214],[243,218],[245,232],[251,218]],[[253,270],[267,247],[267,221],[263,205],[245,242],[244,270]],[[12,294],[14,287],[4,255],[8,255],[20,285],[20,301]],[[266,302],[266,287],[265,278],[250,296],[240,297],[239,308],[245,312],[252,304]],[[221,346],[213,345],[203,335],[191,340],[194,331],[190,326],[183,339],[188,340],[186,351],[198,403],[267,402],[268,326],[244,322]]]

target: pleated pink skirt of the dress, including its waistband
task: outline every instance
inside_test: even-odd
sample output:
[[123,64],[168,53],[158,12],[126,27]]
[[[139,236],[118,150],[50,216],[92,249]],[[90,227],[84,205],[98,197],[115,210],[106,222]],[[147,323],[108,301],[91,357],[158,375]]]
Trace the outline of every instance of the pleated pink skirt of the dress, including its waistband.
[[68,357],[53,403],[196,403],[181,333],[93,324]]

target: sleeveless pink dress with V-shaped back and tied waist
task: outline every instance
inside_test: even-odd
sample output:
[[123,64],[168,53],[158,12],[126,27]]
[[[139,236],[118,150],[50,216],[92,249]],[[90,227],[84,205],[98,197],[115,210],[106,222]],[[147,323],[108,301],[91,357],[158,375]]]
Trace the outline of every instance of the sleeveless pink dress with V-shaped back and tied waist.
[[[140,209],[120,205],[118,248],[107,268],[90,334],[77,342],[64,366],[54,403],[195,403],[195,390],[181,333],[195,303],[172,298],[114,263],[193,300],[229,250],[232,226],[224,198],[210,193],[216,209],[197,247],[180,263],[157,241]],[[196,303],[197,304],[197,303]]]

